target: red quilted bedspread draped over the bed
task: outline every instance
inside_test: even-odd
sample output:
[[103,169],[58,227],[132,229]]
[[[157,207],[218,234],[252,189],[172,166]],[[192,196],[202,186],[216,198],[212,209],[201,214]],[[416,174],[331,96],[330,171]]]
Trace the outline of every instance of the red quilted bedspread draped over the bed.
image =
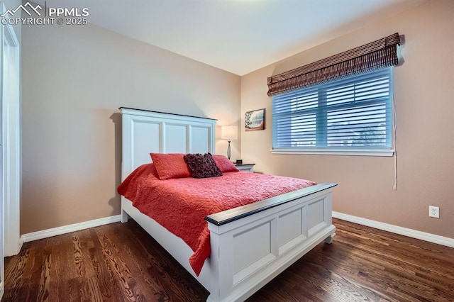
[[205,179],[160,180],[154,164],[143,164],[118,186],[118,193],[192,248],[194,254],[189,263],[199,275],[211,252],[205,216],[314,184],[304,179],[249,172],[228,172],[222,177]]

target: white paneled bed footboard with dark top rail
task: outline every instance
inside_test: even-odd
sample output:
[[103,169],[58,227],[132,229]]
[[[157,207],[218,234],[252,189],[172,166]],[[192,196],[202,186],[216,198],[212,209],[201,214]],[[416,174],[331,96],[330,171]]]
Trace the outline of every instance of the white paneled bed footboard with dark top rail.
[[207,216],[208,301],[243,301],[323,240],[331,243],[331,195],[318,184]]

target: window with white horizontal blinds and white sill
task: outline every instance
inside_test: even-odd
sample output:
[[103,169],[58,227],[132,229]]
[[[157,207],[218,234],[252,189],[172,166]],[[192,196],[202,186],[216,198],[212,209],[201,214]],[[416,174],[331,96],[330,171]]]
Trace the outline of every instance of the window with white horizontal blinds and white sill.
[[272,96],[272,152],[393,155],[391,68]]

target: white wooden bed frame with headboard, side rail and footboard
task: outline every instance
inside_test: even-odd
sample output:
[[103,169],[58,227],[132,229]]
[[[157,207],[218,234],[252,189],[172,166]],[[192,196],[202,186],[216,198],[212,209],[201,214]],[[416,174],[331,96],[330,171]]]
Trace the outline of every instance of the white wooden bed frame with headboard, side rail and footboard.
[[[214,153],[216,120],[120,108],[122,180],[150,152]],[[244,172],[247,173],[247,172]],[[121,198],[121,221],[131,216],[209,292],[208,301],[243,301],[323,240],[331,243],[331,195],[336,184],[318,184],[206,218],[211,256],[201,274],[189,265],[191,248]]]

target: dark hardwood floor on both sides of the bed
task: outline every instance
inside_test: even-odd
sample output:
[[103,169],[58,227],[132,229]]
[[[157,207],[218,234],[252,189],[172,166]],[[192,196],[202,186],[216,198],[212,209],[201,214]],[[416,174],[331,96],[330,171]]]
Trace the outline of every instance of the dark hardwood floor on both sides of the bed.
[[[321,243],[248,301],[454,301],[454,249],[334,220]],[[23,245],[2,301],[205,301],[133,220]]]

